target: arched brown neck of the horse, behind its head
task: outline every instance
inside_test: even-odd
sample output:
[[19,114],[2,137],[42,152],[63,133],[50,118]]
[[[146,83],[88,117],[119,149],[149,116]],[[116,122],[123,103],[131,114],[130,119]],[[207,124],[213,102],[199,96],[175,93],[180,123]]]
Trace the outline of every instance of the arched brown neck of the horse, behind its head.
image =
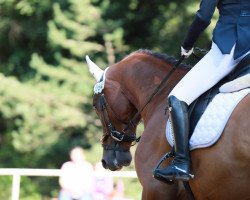
[[[114,75],[129,101],[139,111],[145,105],[156,87],[172,69],[173,64],[145,53],[133,54],[114,66]],[[150,101],[141,113],[144,122],[166,104],[166,97],[176,83],[186,74],[186,70],[177,69],[162,90]]]

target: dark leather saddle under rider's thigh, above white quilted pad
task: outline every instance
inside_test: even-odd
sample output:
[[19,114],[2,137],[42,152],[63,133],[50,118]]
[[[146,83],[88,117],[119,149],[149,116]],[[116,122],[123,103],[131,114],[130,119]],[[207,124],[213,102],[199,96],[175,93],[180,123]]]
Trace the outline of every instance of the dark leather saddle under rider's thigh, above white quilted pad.
[[213,98],[220,92],[220,87],[228,82],[232,82],[240,77],[250,74],[250,54],[246,55],[241,62],[235,67],[235,69],[223,78],[219,83],[209,89],[207,92],[202,94],[189,106],[189,117],[190,117],[190,136],[194,132],[194,129],[205,112],[209,103]]

